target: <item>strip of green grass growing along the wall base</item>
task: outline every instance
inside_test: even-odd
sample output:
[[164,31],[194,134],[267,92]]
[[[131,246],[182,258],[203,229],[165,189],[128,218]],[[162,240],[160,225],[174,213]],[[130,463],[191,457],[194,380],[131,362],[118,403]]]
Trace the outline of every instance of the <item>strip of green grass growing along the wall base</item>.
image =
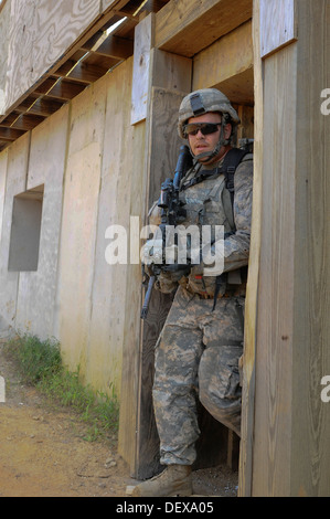
[[115,392],[105,394],[84,385],[79,369],[71,372],[63,366],[58,342],[24,335],[10,341],[7,352],[17,361],[28,383],[82,417],[88,425],[85,439],[117,433],[119,405]]

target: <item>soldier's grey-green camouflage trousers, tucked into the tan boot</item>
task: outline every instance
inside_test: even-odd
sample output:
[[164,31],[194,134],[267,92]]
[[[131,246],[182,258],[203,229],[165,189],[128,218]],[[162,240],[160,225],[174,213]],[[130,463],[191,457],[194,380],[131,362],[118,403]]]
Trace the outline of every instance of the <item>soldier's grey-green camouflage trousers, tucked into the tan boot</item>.
[[180,287],[156,345],[152,396],[163,465],[195,460],[198,398],[239,435],[244,297],[223,297],[212,307],[213,299]]

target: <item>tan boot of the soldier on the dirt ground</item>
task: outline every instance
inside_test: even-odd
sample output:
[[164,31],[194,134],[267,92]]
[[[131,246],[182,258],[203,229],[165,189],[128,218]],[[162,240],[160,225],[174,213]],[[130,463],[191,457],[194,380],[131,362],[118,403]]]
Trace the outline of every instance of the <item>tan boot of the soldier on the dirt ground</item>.
[[137,485],[132,497],[175,497],[192,495],[190,465],[169,465],[161,474]]

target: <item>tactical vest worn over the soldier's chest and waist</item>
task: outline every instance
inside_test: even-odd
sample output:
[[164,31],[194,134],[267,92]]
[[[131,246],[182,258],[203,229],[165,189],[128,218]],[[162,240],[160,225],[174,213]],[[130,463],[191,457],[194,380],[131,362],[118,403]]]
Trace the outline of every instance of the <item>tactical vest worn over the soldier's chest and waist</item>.
[[[224,226],[225,236],[234,233],[236,230],[233,213],[234,173],[242,161],[251,158],[252,155],[247,151],[233,148],[227,152],[220,168],[203,169],[199,165],[198,169],[190,170],[181,182],[180,202],[184,216],[178,224],[185,227],[198,225],[200,233],[203,232],[203,225],[210,225],[212,243],[215,239],[215,225]],[[239,283],[239,273],[234,271],[228,274],[230,278]],[[180,280],[180,284],[189,292],[210,297],[214,297],[214,294],[216,297],[224,295],[230,283],[232,282],[226,275],[196,278],[193,269],[187,278]]]

